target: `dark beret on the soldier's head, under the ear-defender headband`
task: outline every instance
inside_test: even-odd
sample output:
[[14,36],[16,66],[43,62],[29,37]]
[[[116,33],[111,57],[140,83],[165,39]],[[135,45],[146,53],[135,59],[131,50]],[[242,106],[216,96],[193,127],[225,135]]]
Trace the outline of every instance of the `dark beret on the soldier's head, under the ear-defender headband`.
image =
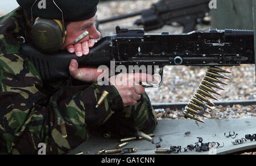
[[97,11],[97,5],[100,0],[16,0],[19,5],[34,17],[46,19],[62,20],[61,11],[63,11],[64,20],[67,22],[76,22],[92,18]]

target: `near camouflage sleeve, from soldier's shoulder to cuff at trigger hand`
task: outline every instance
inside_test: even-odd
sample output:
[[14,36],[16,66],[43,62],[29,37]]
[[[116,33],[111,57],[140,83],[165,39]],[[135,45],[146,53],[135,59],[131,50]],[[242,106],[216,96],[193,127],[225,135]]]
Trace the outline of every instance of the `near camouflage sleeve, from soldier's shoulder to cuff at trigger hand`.
[[[63,87],[51,96],[34,65],[23,55],[0,57],[0,147],[12,154],[63,154],[87,139],[87,127],[101,126],[122,98],[114,86]],[[109,96],[96,109],[101,93]]]

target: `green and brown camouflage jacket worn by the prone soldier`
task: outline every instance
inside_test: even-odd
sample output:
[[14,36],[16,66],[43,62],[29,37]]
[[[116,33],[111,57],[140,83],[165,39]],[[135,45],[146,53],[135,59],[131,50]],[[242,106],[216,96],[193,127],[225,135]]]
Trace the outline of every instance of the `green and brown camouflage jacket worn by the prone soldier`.
[[[46,154],[64,154],[85,142],[88,128],[105,126],[119,136],[154,130],[156,116],[146,94],[137,105],[123,108],[112,85],[43,82],[20,53],[19,37],[25,30],[21,9],[0,18],[0,152],[37,154],[44,143]],[[109,96],[95,109],[104,90]]]

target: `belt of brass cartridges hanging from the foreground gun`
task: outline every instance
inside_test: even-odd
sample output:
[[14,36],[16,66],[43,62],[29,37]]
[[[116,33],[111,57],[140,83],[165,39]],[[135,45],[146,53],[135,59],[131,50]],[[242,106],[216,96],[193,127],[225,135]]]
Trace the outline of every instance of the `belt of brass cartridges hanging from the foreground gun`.
[[207,71],[205,72],[205,76],[201,81],[201,84],[196,89],[195,94],[188,102],[188,105],[185,107],[183,114],[185,118],[191,118],[196,120],[197,126],[199,126],[198,122],[205,123],[203,119],[200,117],[208,118],[205,113],[210,114],[207,109],[212,110],[210,106],[214,106],[214,103],[210,101],[207,97],[212,98],[214,100],[218,100],[210,93],[217,94],[218,96],[222,96],[221,93],[217,92],[213,88],[225,90],[221,86],[217,85],[216,83],[228,85],[226,82],[219,80],[218,78],[223,78],[226,80],[230,80],[229,77],[223,76],[219,73],[232,73],[228,70],[221,69],[219,67],[208,67]]

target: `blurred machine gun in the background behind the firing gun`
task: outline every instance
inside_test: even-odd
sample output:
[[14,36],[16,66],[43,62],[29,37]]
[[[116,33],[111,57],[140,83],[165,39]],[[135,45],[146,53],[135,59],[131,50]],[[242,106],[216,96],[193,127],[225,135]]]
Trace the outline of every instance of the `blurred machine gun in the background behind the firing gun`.
[[207,13],[209,13],[209,0],[160,0],[152,4],[150,9],[97,20],[96,26],[141,15],[141,19],[136,20],[134,24],[143,25],[145,31],[157,30],[176,22],[181,24],[184,27],[183,32],[187,33],[195,30],[196,24],[209,24],[204,20]]

